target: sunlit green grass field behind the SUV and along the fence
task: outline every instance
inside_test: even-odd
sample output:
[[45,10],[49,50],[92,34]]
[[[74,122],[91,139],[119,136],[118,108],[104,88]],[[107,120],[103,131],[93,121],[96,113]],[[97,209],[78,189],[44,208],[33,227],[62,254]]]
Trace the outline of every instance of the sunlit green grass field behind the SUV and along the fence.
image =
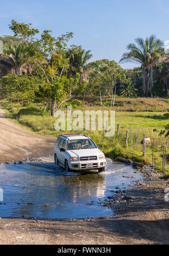
[[[133,99],[127,100],[131,101]],[[144,101],[144,99],[141,100]],[[152,164],[153,139],[155,138],[155,165],[157,165],[158,170],[161,170],[163,142],[165,140],[167,141],[167,144],[169,144],[169,139],[164,138],[164,136],[159,136],[159,133],[163,127],[169,123],[169,118],[164,116],[167,110],[169,110],[169,103],[167,100],[158,99],[159,102],[164,103],[163,106],[159,105],[159,112],[143,112],[144,105],[148,105],[148,100],[153,101],[153,99],[146,99],[146,102],[140,104],[140,110],[137,110],[137,112],[129,112],[128,110],[124,112],[119,109],[115,112],[115,127],[117,127],[117,124],[120,125],[119,137],[116,133],[113,137],[107,138],[104,136],[104,131],[78,132],[90,135],[91,138],[100,146],[100,149],[110,157],[124,157],[144,164]],[[156,100],[157,99],[155,99],[155,103],[157,102]],[[10,104],[3,100],[1,101],[1,107],[5,109],[7,117],[10,118],[11,121],[19,123],[19,125],[35,134],[58,136],[61,133],[67,133],[67,131],[56,131],[54,129],[56,118],[44,113],[42,109],[37,108],[34,104],[23,108],[23,106],[20,106],[19,104]],[[93,107],[88,106],[87,108],[87,106],[82,106],[81,109],[93,109]],[[99,106],[95,106],[95,110],[98,109],[103,110],[110,108],[100,108]],[[166,109],[166,111],[162,111],[162,109]],[[136,126],[138,132],[137,150]],[[132,150],[130,149],[130,127],[132,131]],[[128,146],[125,144],[127,130],[129,131]],[[146,144],[145,157],[143,157],[143,145],[141,144],[143,134],[146,135],[146,138],[151,139],[151,143]],[[169,162],[168,149],[167,161]],[[166,170],[169,172],[169,168],[166,168]]]

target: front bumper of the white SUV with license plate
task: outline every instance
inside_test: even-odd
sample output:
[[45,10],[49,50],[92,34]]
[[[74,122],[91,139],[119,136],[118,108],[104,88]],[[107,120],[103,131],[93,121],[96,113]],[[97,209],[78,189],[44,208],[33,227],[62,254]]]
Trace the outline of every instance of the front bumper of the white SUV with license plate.
[[106,159],[90,160],[90,161],[70,161],[68,162],[71,170],[90,170],[106,167]]

